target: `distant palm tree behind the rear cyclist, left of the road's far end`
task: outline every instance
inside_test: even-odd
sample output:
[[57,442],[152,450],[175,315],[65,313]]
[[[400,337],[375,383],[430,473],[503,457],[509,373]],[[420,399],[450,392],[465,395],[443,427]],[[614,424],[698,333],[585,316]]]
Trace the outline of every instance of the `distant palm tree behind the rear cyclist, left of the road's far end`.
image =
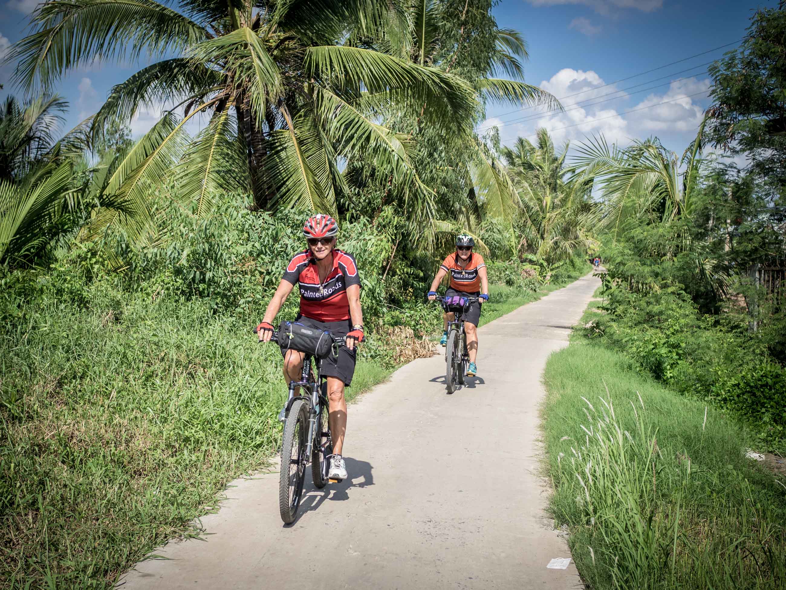
[[518,138],[512,148],[502,149],[521,203],[516,223],[521,234],[518,249],[549,265],[593,243],[589,238],[593,212],[586,192],[565,179],[573,171],[564,167],[567,148],[566,142],[557,153],[548,131],[538,129],[536,145]]

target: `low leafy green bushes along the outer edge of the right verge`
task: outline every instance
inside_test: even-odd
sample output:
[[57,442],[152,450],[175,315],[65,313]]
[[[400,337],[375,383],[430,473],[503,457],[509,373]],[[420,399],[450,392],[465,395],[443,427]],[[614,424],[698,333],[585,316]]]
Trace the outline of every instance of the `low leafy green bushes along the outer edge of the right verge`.
[[672,389],[732,412],[765,447],[786,448],[786,370],[766,341],[701,314],[679,285],[641,289],[608,278],[605,285],[606,313],[584,328],[587,337],[624,352]]

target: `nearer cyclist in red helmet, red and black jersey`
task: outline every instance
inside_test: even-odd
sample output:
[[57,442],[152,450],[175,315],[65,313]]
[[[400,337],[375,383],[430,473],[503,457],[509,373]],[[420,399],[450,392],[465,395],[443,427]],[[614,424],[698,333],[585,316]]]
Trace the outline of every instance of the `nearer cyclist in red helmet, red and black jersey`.
[[[341,455],[347,430],[344,387],[352,382],[355,343],[363,341],[360,275],[354,257],[336,249],[336,219],[318,213],[307,219],[303,234],[308,247],[289,261],[276,293],[267,305],[262,323],[257,326],[259,340],[270,341],[274,330],[272,322],[296,284],[300,291],[300,313],[296,321],[347,338],[338,354],[331,354],[321,364],[321,374],[327,375],[328,381],[329,421],[333,437],[328,477],[347,479],[347,466]],[[286,351],[285,379],[288,382],[299,381],[302,370],[303,352]]]

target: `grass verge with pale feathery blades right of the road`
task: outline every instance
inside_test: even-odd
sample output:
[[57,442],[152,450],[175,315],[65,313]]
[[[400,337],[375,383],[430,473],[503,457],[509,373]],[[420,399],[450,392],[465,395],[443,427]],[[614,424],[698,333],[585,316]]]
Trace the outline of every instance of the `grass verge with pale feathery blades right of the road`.
[[751,433],[581,337],[545,384],[549,510],[589,588],[786,587],[786,481]]

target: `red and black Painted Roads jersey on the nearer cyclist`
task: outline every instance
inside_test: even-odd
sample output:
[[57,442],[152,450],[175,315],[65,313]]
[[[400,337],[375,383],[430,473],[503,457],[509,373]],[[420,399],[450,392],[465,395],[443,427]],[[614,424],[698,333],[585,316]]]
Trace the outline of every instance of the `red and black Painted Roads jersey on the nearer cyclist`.
[[318,322],[351,319],[347,287],[360,285],[354,256],[337,249],[331,255],[333,267],[321,285],[316,260],[309,250],[296,254],[284,271],[284,280],[299,286],[300,315]]

